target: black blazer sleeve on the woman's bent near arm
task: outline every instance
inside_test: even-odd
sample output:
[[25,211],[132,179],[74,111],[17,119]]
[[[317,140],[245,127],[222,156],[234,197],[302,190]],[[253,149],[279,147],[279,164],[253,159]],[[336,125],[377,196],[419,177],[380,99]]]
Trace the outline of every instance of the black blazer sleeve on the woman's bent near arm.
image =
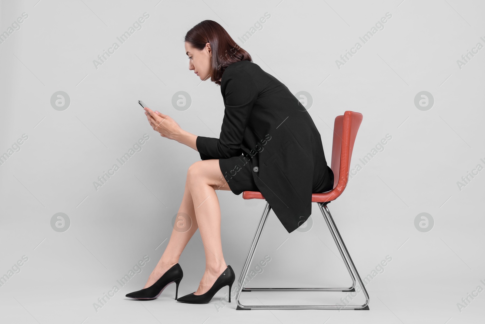
[[244,130],[258,98],[249,73],[239,68],[226,69],[221,80],[224,118],[219,138],[197,136],[195,145],[202,160],[223,159],[242,154]]

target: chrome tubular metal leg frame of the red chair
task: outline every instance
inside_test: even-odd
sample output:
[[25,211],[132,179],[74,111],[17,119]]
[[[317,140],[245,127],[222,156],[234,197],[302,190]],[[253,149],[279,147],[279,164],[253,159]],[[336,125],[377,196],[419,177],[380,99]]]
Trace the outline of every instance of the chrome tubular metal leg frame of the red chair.
[[[337,226],[335,225],[335,222],[332,219],[332,216],[330,214],[330,211],[328,210],[328,207],[326,204],[323,203],[318,203],[320,207],[320,211],[323,214],[323,218],[325,219],[325,222],[327,223],[328,229],[330,230],[330,233],[332,234],[332,237],[339,249],[340,255],[342,256],[342,259],[345,263],[345,266],[347,267],[347,270],[352,278],[353,285],[351,288],[243,288],[242,283],[243,279],[246,276],[249,265],[253,259],[254,252],[256,250],[256,247],[258,245],[259,238],[261,236],[261,232],[264,228],[264,224],[268,218],[268,214],[271,210],[271,207],[266,203],[265,209],[263,211],[263,214],[261,216],[261,220],[259,221],[258,229],[256,230],[256,233],[253,238],[253,242],[251,243],[251,247],[248,252],[248,256],[246,257],[246,261],[244,263],[244,266],[242,267],[242,272],[239,278],[239,285],[238,285],[238,292],[236,294],[236,304],[237,307],[236,309],[238,310],[249,310],[249,309],[369,309],[369,295],[367,294],[367,290],[365,290],[365,287],[362,283],[362,280],[360,279],[359,274],[357,273],[356,267],[354,265],[354,262],[352,261],[352,258],[350,257],[349,252],[347,251],[347,248],[345,247],[345,244],[343,243],[343,239],[340,236],[340,233],[337,229]],[[355,275],[354,275],[355,274]],[[254,306],[245,306],[242,305],[239,301],[239,297],[241,294],[241,291],[355,291],[355,285],[356,285],[356,278],[358,280],[359,286],[362,288],[364,295],[366,297],[366,302],[362,306],[333,306],[333,305],[322,305],[322,306],[259,306],[259,305],[254,305]]]

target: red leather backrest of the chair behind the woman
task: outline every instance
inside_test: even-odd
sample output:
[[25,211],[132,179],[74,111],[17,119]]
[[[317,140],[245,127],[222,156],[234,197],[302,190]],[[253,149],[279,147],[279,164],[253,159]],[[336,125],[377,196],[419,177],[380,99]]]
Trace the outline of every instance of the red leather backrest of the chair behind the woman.
[[352,150],[362,117],[361,113],[347,110],[343,116],[335,118],[330,168],[334,172],[334,189],[340,193],[347,186]]

